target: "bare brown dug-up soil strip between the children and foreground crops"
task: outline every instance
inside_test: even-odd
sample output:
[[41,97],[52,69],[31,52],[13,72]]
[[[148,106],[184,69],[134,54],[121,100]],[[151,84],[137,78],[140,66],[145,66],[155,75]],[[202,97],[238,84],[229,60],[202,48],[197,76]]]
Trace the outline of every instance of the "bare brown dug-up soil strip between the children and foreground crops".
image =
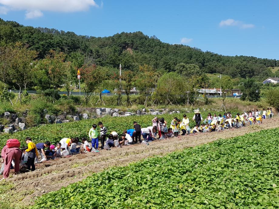
[[93,172],[101,171],[109,166],[123,166],[153,155],[164,155],[187,147],[194,147],[215,141],[219,138],[241,136],[262,129],[279,127],[279,118],[265,120],[264,124],[248,126],[235,130],[197,134],[195,136],[181,136],[163,141],[153,141],[149,146],[138,144],[113,148],[111,151],[102,150],[99,153],[78,154],[69,158],[60,158],[36,164],[33,172],[14,175],[8,181],[16,185],[16,191],[34,190],[23,200],[26,204],[32,202],[33,197],[49,191],[55,191],[62,186],[81,181]]

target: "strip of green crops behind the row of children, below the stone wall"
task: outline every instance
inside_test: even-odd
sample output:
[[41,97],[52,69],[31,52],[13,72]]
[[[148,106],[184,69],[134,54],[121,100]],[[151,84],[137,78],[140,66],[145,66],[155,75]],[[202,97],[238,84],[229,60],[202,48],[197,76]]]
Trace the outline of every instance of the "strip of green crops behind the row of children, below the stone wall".
[[[170,122],[174,117],[183,118],[183,114],[162,114],[156,115],[158,118],[165,118],[168,122],[168,127]],[[220,113],[221,114],[221,113]],[[190,119],[190,127],[195,125],[195,122],[191,120],[194,113],[189,113],[187,116]],[[206,117],[207,112],[202,113],[203,117]],[[124,130],[133,128],[133,121],[137,121],[142,128],[152,126],[152,119],[154,115],[141,115],[141,116],[128,116],[128,117],[104,117],[92,120],[82,120],[76,122],[69,122],[63,124],[49,124],[42,125],[34,128],[27,129],[25,131],[16,132],[14,134],[2,134],[0,135],[0,147],[2,148],[9,138],[17,138],[22,145],[25,145],[25,138],[31,137],[34,143],[50,141],[52,144],[59,142],[62,138],[72,138],[72,137],[87,137],[89,129],[92,124],[98,124],[102,121],[104,126],[108,131],[116,131],[121,134]],[[99,127],[98,127],[99,129]]]

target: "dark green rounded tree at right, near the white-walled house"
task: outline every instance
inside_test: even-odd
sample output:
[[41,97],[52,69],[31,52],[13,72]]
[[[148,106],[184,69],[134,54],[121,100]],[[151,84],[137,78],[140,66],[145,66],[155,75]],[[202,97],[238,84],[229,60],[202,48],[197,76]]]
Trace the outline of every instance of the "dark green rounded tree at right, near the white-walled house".
[[240,86],[242,91],[241,100],[248,101],[259,101],[260,96],[260,86],[255,82],[254,79],[247,78]]

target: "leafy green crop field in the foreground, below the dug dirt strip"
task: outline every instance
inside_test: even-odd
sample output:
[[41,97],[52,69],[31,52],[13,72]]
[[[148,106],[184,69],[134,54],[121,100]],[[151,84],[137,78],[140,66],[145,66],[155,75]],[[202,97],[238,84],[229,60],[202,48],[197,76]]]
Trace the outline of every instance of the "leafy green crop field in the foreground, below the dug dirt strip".
[[278,135],[263,130],[107,169],[32,208],[278,208]]

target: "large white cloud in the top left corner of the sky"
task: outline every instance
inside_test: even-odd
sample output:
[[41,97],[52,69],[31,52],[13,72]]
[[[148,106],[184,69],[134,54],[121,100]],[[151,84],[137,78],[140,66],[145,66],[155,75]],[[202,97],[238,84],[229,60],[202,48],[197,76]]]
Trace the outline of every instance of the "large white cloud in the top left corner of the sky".
[[79,12],[99,7],[94,0],[0,0],[0,4],[4,5],[0,7],[2,14],[8,10],[25,10],[26,18],[41,17],[41,11]]

